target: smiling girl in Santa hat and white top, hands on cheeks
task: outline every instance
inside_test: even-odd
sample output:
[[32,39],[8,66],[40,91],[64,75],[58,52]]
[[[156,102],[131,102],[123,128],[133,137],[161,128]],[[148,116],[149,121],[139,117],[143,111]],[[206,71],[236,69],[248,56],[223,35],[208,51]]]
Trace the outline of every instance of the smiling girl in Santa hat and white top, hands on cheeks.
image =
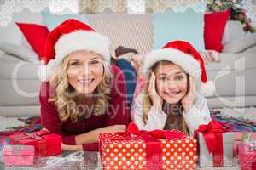
[[[178,129],[192,134],[211,121],[207,99],[212,90],[201,55],[189,42],[169,42],[145,56],[146,88],[133,106],[141,130]],[[211,93],[211,92],[210,92]]]

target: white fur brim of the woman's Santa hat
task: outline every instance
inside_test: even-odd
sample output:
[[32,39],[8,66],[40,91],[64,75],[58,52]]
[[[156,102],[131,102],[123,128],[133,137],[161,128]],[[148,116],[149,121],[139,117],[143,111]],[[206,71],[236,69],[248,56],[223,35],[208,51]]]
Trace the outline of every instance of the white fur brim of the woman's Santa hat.
[[109,40],[94,31],[73,31],[63,35],[55,43],[55,64],[59,65],[62,59],[73,51],[90,50],[102,55],[110,63]]

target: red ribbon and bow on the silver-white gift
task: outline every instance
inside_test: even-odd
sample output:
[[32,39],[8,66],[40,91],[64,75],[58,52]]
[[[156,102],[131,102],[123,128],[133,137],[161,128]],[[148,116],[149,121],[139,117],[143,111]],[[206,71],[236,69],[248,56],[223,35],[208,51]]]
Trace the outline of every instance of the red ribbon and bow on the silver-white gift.
[[224,150],[223,150],[223,135],[225,133],[222,124],[216,121],[211,121],[207,125],[200,125],[194,133],[194,138],[197,139],[198,133],[202,133],[207,150],[212,154],[213,167],[224,166]]

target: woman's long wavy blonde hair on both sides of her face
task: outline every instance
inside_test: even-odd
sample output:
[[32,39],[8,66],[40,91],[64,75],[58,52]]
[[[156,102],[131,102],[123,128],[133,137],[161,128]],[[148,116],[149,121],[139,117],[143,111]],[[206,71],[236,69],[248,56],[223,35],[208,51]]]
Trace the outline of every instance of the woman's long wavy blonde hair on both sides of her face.
[[[78,122],[81,114],[79,113],[76,96],[70,95],[74,92],[74,89],[69,84],[67,78],[68,61],[69,59],[66,56],[61,64],[55,68],[54,74],[49,79],[50,86],[55,91],[54,96],[50,97],[49,101],[54,102],[56,105],[61,122],[66,122],[68,118],[72,122]],[[94,115],[96,116],[106,114],[108,109],[108,99],[113,75],[106,62],[103,62],[103,70],[102,81],[96,88],[96,104],[93,108]]]

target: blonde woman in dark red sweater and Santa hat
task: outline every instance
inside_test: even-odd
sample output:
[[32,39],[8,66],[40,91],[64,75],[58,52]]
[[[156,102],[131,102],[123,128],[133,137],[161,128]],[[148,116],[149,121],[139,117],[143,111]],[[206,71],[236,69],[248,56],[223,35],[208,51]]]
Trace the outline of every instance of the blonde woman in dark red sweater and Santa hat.
[[41,125],[62,135],[62,149],[97,150],[99,133],[125,131],[125,78],[109,65],[107,37],[66,20],[49,33],[44,61],[54,70],[41,86]]

